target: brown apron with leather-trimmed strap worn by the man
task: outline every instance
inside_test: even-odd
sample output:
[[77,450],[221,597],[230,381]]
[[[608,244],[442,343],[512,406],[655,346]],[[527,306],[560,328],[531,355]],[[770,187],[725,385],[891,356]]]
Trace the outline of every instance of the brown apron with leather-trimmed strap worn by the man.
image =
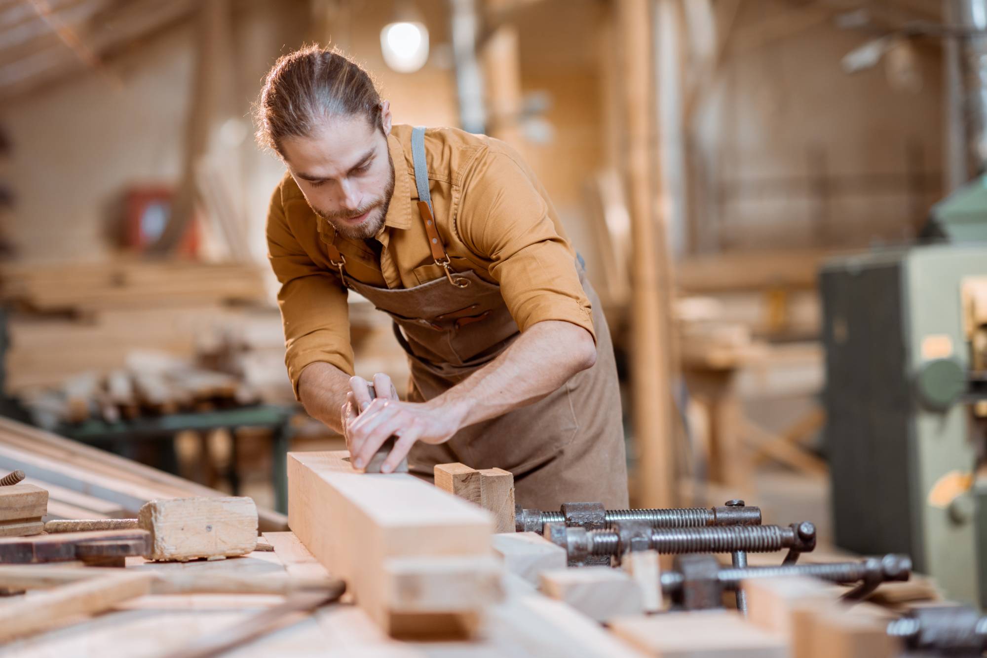
[[[416,146],[413,135],[413,151]],[[424,174],[418,169],[420,189],[419,176]],[[427,186],[418,196],[435,262],[446,270],[442,279],[407,289],[362,284],[346,276],[342,254],[327,240],[343,283],[394,320],[395,336],[411,365],[412,402],[430,400],[463,381],[520,335],[499,286],[472,270],[450,270],[432,222]],[[514,475],[515,499],[523,507],[558,509],[564,502],[577,501],[602,502],[608,509],[627,507],[624,429],[610,330],[581,263],[574,266],[593,308],[595,364],[534,404],[460,429],[445,443],[417,442],[409,455],[412,473],[431,480],[433,467],[449,462],[476,469],[497,467]]]

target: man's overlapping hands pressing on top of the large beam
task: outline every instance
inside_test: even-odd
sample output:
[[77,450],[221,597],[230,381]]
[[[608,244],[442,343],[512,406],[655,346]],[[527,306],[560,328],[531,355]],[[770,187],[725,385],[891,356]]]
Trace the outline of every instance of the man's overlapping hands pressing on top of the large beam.
[[[392,434],[398,437],[381,473],[391,473],[408,455],[415,441],[441,443],[461,427],[462,414],[449,405],[401,402],[391,378],[378,372],[373,378],[377,398],[371,399],[367,381],[349,380],[350,392],[342,406],[342,427],[353,466],[363,468]],[[357,411],[359,410],[359,411]]]

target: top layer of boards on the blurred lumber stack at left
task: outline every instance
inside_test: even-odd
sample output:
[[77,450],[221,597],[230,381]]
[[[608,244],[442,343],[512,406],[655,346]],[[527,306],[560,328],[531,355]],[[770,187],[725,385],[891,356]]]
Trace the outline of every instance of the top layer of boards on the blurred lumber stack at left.
[[178,260],[7,264],[2,296],[38,311],[89,313],[138,306],[263,302],[259,267]]

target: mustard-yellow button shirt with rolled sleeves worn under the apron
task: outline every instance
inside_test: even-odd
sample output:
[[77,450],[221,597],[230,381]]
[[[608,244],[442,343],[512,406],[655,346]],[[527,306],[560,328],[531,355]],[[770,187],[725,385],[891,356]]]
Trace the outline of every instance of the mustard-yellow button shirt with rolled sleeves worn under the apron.
[[[536,322],[565,320],[593,333],[575,253],[548,194],[517,152],[455,128],[429,129],[424,142],[435,224],[452,269],[473,270],[498,284],[522,332]],[[267,256],[281,284],[285,363],[296,396],[309,363],[328,362],[353,373],[346,288],[330,264],[327,242],[335,237],[346,275],[370,286],[413,288],[445,277],[432,261],[416,205],[412,127],[394,126],[388,149],[394,197],[372,238],[380,243],[376,250],[369,240],[336,235],[289,173],[271,196]]]

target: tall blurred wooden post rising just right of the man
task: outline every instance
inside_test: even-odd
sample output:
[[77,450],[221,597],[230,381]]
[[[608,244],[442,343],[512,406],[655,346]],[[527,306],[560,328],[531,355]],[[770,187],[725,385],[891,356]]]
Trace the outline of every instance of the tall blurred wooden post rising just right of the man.
[[651,19],[647,0],[617,3],[623,45],[623,96],[627,120],[626,169],[631,198],[631,377],[634,436],[638,453],[636,502],[674,504],[673,417],[670,373],[670,272],[662,218],[655,213],[659,190],[654,138]]

